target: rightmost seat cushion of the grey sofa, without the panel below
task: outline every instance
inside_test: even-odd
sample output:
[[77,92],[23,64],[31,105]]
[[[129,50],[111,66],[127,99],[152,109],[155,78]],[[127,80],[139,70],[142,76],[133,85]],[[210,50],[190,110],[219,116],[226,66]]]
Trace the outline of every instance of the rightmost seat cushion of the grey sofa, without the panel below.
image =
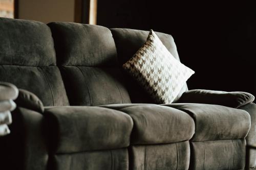
[[168,104],[188,113],[195,121],[192,141],[245,138],[250,129],[250,115],[244,110],[208,104]]

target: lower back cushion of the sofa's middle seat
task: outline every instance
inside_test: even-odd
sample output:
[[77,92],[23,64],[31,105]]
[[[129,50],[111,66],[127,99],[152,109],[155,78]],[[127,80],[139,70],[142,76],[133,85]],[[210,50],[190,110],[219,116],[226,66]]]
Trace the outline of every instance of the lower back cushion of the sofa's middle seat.
[[60,69],[71,105],[131,103],[118,68],[62,66]]

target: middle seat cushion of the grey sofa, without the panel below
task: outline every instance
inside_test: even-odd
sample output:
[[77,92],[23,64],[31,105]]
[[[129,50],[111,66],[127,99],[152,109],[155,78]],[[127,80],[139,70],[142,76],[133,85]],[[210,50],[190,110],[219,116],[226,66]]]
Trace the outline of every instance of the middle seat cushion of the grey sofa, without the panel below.
[[132,144],[173,143],[189,140],[194,134],[193,119],[175,108],[153,104],[114,104],[101,107],[119,110],[132,117]]

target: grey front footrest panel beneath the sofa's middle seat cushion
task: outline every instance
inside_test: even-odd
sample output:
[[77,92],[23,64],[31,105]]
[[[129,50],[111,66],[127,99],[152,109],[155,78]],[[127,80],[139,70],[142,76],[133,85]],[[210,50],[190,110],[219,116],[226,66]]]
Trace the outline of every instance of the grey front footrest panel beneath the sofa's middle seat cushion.
[[169,144],[133,145],[130,148],[130,168],[133,170],[187,170],[189,142]]

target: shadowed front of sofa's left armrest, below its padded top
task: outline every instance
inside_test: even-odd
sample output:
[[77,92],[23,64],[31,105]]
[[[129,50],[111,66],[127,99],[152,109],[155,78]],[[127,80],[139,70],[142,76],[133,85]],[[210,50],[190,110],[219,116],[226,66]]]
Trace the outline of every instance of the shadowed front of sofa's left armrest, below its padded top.
[[11,133],[0,138],[1,169],[46,170],[48,147],[44,117],[17,107],[12,112]]

